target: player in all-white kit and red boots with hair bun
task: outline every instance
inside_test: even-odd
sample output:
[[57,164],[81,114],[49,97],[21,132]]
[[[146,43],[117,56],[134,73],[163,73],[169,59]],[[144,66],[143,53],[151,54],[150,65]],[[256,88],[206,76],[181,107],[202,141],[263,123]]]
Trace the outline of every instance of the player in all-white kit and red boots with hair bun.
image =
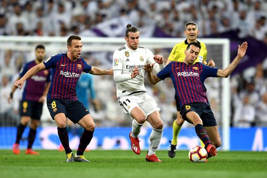
[[129,134],[131,148],[137,155],[140,154],[138,134],[145,121],[153,127],[150,135],[150,147],[145,160],[162,162],[155,155],[163,133],[163,122],[155,100],[146,93],[144,86],[143,66],[154,65],[155,73],[164,68],[162,55],[154,55],[149,49],[139,46],[139,29],[127,25],[125,32],[126,44],[113,54],[113,78],[116,82],[118,103],[124,112],[134,119],[132,131]]

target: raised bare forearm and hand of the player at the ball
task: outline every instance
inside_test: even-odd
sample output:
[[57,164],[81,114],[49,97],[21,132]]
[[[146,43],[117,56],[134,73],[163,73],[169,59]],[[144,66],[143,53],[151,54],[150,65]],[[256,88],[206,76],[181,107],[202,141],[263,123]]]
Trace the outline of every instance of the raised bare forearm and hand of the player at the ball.
[[236,66],[238,66],[238,64],[240,63],[241,59],[246,54],[247,48],[248,48],[248,43],[247,42],[242,43],[241,46],[239,45],[239,47],[238,47],[238,55],[236,55],[236,57],[234,58],[233,62],[228,67],[226,67],[224,70],[218,69],[217,77],[225,77],[225,78],[227,78],[233,72],[233,70],[236,68]]

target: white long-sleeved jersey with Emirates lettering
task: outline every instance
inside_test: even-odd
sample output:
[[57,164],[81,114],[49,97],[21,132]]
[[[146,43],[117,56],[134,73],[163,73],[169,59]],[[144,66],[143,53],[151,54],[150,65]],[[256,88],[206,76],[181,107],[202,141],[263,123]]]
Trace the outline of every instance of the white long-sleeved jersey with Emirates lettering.
[[[136,50],[130,49],[127,44],[117,49],[113,54],[114,80],[116,81],[117,97],[129,95],[133,92],[146,91],[144,86],[145,64],[154,64],[154,54],[147,48],[139,46]],[[131,78],[133,69],[137,66],[139,75]],[[156,63],[153,70],[157,73],[164,68],[164,65]],[[119,78],[115,79],[115,77]]]

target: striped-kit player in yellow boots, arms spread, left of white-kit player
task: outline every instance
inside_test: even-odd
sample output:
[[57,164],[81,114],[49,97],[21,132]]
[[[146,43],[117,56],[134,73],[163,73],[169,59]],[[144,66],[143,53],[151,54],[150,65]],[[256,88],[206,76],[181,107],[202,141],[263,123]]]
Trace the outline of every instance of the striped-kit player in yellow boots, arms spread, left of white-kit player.
[[[89,162],[83,155],[84,150],[93,138],[95,123],[87,108],[78,100],[75,87],[81,72],[94,75],[112,75],[113,70],[103,70],[88,65],[80,57],[82,42],[79,36],[70,36],[67,40],[67,53],[49,57],[28,72],[18,81],[15,86],[21,88],[26,79],[34,76],[37,72],[52,69],[51,84],[47,94],[47,107],[50,115],[57,124],[57,133],[65,149],[67,162]],[[84,128],[80,137],[80,143],[75,157],[69,146],[67,132],[67,117]]]

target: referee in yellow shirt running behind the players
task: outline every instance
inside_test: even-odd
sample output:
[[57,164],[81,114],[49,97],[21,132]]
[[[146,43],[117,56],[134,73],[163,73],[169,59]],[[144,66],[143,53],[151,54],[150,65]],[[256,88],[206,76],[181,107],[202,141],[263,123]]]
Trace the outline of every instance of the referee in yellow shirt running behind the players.
[[[187,48],[187,45],[192,42],[197,42],[200,44],[201,49],[200,49],[198,58],[195,61],[195,63],[199,62],[210,67],[215,67],[215,63],[213,60],[210,60],[209,63],[206,62],[206,56],[207,56],[206,45],[203,42],[197,41],[198,33],[199,33],[199,30],[198,30],[197,24],[192,21],[187,22],[185,24],[185,31],[184,31],[184,34],[186,35],[187,39],[181,43],[177,43],[172,48],[166,65],[168,65],[172,61],[183,62],[185,59],[185,50]],[[182,118],[182,115],[180,114],[181,109],[180,109],[179,99],[176,95],[175,95],[175,101],[176,101],[176,108],[177,108],[177,118],[173,122],[173,125],[172,125],[172,140],[169,141],[170,146],[168,150],[168,155],[170,158],[175,157],[177,137],[185,122],[185,120],[183,120]],[[201,145],[202,144],[203,143],[201,143]]]

